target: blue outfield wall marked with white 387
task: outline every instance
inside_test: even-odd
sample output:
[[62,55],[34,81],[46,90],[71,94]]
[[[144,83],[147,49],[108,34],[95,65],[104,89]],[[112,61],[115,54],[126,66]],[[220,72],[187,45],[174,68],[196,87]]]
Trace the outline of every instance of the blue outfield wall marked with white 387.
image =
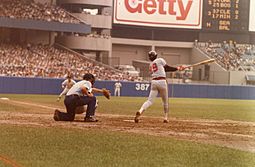
[[[0,77],[0,93],[53,94],[61,93],[64,79]],[[121,82],[121,96],[147,97],[150,83]],[[114,81],[96,81],[95,87],[110,89],[114,94]],[[255,99],[254,86],[169,84],[169,97]]]

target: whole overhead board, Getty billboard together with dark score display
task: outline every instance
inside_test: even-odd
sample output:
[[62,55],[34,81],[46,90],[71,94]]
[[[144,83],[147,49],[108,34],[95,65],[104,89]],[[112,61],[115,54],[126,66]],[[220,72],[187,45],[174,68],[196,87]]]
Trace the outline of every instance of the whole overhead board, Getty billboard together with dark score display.
[[114,0],[114,24],[201,29],[204,32],[255,31],[255,0]]

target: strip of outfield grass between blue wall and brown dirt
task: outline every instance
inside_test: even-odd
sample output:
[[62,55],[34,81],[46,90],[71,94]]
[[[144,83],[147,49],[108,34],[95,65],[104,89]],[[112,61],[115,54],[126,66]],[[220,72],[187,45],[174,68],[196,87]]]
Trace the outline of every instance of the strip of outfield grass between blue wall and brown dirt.
[[[45,104],[52,107],[64,107],[63,99],[61,103],[56,102],[57,96],[52,95],[10,95],[5,94],[0,97],[7,97],[12,100],[21,100]],[[146,98],[135,97],[112,97],[107,100],[102,96],[99,99],[99,112],[108,114],[134,115],[139,110]],[[224,99],[189,99],[173,98],[169,99],[170,115],[177,118],[201,118],[201,119],[230,119],[237,121],[255,122],[255,100],[224,100]],[[21,110],[29,106],[13,108],[8,106],[4,110]],[[1,106],[2,108],[2,106]],[[32,109],[31,109],[32,110]],[[162,116],[162,104],[160,98],[145,112],[147,116]]]

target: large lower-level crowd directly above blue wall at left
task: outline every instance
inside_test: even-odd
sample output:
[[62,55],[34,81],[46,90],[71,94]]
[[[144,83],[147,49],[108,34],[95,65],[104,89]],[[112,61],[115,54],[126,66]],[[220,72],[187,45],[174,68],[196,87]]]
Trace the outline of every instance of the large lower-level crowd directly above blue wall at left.
[[74,79],[81,79],[88,72],[97,80],[141,80],[52,46],[0,43],[1,76],[64,78],[65,74],[71,73]]

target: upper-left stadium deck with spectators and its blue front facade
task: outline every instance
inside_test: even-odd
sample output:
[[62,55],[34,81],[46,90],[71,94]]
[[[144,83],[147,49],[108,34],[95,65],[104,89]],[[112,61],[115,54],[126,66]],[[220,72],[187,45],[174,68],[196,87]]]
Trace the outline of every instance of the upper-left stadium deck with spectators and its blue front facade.
[[0,27],[51,32],[90,33],[83,20],[52,4],[53,1],[0,1]]

